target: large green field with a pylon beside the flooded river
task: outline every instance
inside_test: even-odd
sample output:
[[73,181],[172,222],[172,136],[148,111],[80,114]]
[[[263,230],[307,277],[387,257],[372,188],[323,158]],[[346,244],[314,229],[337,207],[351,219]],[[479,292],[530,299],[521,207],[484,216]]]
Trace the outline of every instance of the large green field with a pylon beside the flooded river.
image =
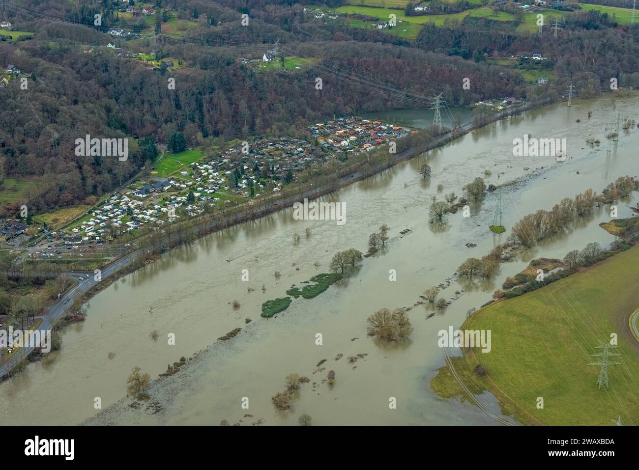
[[[639,247],[562,281],[482,308],[461,330],[491,330],[490,352],[465,349],[458,361],[473,390],[495,395],[525,424],[639,423],[639,344],[628,318],[639,307]],[[609,368],[610,389],[597,388],[590,354],[618,335],[621,365]],[[461,366],[461,362],[463,365]],[[488,375],[473,374],[480,363]],[[445,375],[445,374],[443,374]],[[441,385],[442,383],[440,383]],[[435,388],[435,387],[434,387]],[[537,409],[537,397],[544,400]]]

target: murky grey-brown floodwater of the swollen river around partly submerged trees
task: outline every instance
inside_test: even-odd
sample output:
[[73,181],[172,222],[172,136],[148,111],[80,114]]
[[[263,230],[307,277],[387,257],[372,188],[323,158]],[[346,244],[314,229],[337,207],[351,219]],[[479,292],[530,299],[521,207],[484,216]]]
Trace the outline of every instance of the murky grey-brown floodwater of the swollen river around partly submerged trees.
[[[465,292],[442,313],[427,319],[431,308],[412,308],[409,315],[415,331],[408,342],[378,344],[366,336],[366,318],[382,307],[412,307],[424,289],[450,278],[466,258],[488,254],[509,236],[509,230],[501,235],[488,230],[496,195],[473,205],[470,218],[463,218],[460,211],[449,215],[445,230],[434,230],[427,220],[433,195],[439,201],[452,191],[462,195],[463,185],[487,169],[491,176],[485,177],[486,183],[518,179],[521,183],[509,186],[502,195],[504,225],[509,229],[522,216],[550,209],[564,197],[587,188],[601,192],[619,176],[639,174],[639,130],[622,134],[610,155],[603,137],[604,126],[616,119],[617,112],[639,120],[638,103],[638,98],[617,102],[601,98],[574,102],[571,108],[555,105],[477,130],[325,198],[346,204],[344,225],[293,220],[288,209],[169,252],[91,299],[86,321],[63,331],[61,351],[30,365],[10,383],[0,384],[3,423],[79,423],[97,413],[96,397],[104,409],[125,395],[132,367],[137,365],[155,378],[180,356],[205,350],[185,371],[153,386],[151,392],[164,407],[162,412],[127,409],[129,400],[95,422],[242,420],[249,424],[263,419],[267,425],[292,425],[299,414],[307,413],[316,425],[495,424],[478,407],[457,399],[442,400],[429,388],[436,369],[444,365],[437,332],[460,326],[469,308],[488,301],[504,278],[521,271],[532,257],[564,257],[590,241],[601,245],[613,241],[597,226],[610,220],[605,208],[566,234],[544,241],[521,261],[502,264],[492,282],[463,286],[452,282],[440,296],[450,299],[456,291]],[[566,138],[566,162],[513,156],[512,140],[525,133]],[[589,135],[600,139],[601,146],[590,148],[585,143]],[[432,167],[430,181],[419,174],[426,162]],[[442,192],[437,191],[439,184]],[[620,217],[631,214],[629,202],[619,204]],[[336,251],[353,247],[366,252],[369,234],[381,224],[391,227],[388,248],[364,259],[344,285],[332,286],[314,299],[293,299],[288,310],[273,319],[259,317],[264,301],[283,297],[292,284],[328,272]],[[311,229],[309,237],[306,228]],[[406,228],[412,232],[401,237],[399,232]],[[301,236],[298,243],[293,243],[295,232]],[[466,248],[466,243],[477,246]],[[249,273],[247,282],[242,281],[243,269]],[[390,269],[396,270],[396,281],[389,280]],[[279,279],[273,276],[275,271],[280,271]],[[248,287],[254,291],[248,292]],[[234,299],[240,308],[230,305]],[[252,320],[249,324],[245,324],[247,318]],[[215,341],[233,328],[242,328],[237,337]],[[153,330],[158,332],[157,340],[151,338]],[[171,333],[174,345],[167,341]],[[316,344],[316,333],[322,334],[323,344]],[[112,359],[109,352],[114,353]],[[336,361],[338,354],[343,357]],[[354,363],[347,360],[357,354],[362,358]],[[321,360],[327,360],[321,366],[325,370],[314,374]],[[330,388],[322,383],[328,370],[335,371]],[[302,385],[293,411],[275,411],[270,398],[284,390],[284,377],[291,372],[309,377],[311,383]],[[495,399],[484,395],[486,406],[500,414]],[[249,409],[242,409],[245,397]],[[389,409],[390,397],[396,398],[396,409]],[[39,402],[44,406],[34,406]],[[245,414],[251,416],[245,418]]]

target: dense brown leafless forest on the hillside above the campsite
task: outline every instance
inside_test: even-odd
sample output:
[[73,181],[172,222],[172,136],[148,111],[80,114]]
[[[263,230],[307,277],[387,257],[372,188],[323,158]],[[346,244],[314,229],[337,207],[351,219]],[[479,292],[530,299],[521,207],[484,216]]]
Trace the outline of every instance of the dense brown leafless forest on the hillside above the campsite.
[[[562,80],[577,81],[581,91],[597,91],[610,77],[621,77],[622,84],[639,79],[637,29],[605,23],[585,31],[569,24],[552,44],[465,23],[426,26],[409,43],[339,21],[321,24],[291,1],[161,0],[158,10],[190,20],[207,15],[207,21],[179,35],[160,27],[154,36],[144,18],[120,18],[114,1],[4,5],[2,18],[33,35],[0,42],[0,65],[13,64],[29,77],[28,89],[21,89],[20,80],[0,88],[5,110],[0,167],[3,176],[35,181],[28,204],[36,212],[95,201],[152,163],[153,142],[166,143],[176,131],[188,146],[211,139],[223,144],[255,135],[295,135],[308,123],[333,116],[426,107],[436,93],[449,105],[469,105],[499,96],[554,96],[564,89],[559,80],[555,87],[526,85],[515,70],[489,63],[491,56],[539,50],[551,57]],[[248,26],[240,26],[242,12],[250,15]],[[96,13],[102,15],[99,26],[93,24]],[[134,33],[137,27],[146,37],[112,38],[111,27]],[[311,66],[284,73],[238,61],[261,57],[275,40],[286,56],[311,57]],[[123,50],[157,52],[188,66],[173,71],[145,66],[110,53],[111,41]],[[321,89],[316,89],[318,77]],[[174,89],[167,86],[169,78]],[[461,86],[465,78],[473,84],[470,90]],[[127,162],[76,156],[75,139],[87,134],[128,137]],[[19,205],[6,204],[3,212],[15,213]]]

